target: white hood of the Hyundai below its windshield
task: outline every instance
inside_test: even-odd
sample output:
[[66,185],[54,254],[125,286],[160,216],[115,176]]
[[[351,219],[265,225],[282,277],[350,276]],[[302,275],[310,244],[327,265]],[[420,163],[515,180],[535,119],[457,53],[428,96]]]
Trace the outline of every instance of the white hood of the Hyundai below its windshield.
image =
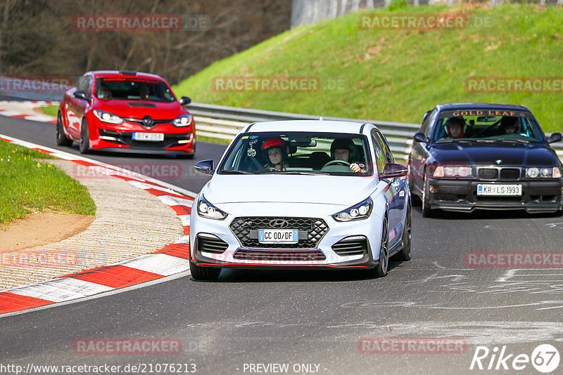
[[218,175],[201,192],[212,204],[314,203],[352,206],[375,190],[377,179],[356,176]]

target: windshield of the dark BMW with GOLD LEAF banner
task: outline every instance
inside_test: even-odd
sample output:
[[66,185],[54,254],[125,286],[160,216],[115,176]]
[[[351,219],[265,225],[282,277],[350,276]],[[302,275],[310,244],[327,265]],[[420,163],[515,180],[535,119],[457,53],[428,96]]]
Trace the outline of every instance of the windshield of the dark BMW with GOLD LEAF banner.
[[545,143],[536,119],[517,110],[454,110],[440,114],[433,140],[447,142]]

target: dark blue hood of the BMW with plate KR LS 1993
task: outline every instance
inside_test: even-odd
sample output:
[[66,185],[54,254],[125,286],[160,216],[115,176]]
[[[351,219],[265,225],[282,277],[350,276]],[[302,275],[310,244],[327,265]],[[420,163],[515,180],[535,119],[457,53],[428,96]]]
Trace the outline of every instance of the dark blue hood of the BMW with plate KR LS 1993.
[[557,165],[557,156],[550,147],[531,143],[443,143],[434,145],[432,154],[440,164]]

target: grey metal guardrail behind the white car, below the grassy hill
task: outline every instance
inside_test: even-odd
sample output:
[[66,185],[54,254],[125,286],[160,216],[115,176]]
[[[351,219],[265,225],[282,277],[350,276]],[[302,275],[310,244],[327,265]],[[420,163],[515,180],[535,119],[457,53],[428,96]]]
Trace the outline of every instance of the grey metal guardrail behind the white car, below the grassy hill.
[[[248,108],[227,107],[224,105],[211,105],[191,103],[187,109],[196,119],[196,132],[198,135],[210,138],[231,140],[247,124],[255,121],[279,120],[317,120],[320,116],[311,114],[298,114],[274,112],[265,110],[251,110]],[[404,122],[374,121],[364,119],[346,119],[343,117],[322,117],[325,120],[352,121],[361,124],[374,124],[384,133],[391,152],[397,159],[407,159],[412,147],[412,136],[420,128],[419,124]],[[559,159],[563,159],[563,142],[552,143]]]

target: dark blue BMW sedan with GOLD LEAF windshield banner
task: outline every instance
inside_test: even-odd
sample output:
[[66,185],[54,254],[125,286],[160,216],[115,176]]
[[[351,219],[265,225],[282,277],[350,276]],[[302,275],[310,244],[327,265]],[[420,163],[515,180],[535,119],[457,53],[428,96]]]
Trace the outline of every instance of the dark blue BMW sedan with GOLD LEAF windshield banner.
[[424,114],[409,156],[408,183],[435,209],[525,209],[563,213],[562,162],[530,110],[521,105],[456,103]]

